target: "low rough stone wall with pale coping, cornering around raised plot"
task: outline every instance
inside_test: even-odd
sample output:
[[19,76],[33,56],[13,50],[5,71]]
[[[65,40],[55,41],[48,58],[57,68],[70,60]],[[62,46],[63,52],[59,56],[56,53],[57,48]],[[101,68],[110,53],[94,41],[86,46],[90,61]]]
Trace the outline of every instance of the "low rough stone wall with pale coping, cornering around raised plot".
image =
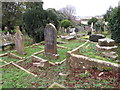
[[66,66],[69,70],[74,71],[75,69],[78,68],[87,69],[92,67],[98,67],[100,69],[102,69],[103,67],[111,67],[113,70],[120,69],[120,64],[115,64],[108,61],[102,61],[102,60],[74,54],[74,52],[78,51],[86,43],[79,46],[79,48],[67,52]]

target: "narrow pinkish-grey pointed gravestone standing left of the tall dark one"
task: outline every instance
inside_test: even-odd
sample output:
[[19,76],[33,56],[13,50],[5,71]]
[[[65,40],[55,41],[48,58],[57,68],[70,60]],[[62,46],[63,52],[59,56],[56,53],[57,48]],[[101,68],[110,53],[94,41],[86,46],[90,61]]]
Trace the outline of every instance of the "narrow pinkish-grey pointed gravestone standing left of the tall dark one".
[[23,39],[23,34],[19,30],[19,26],[16,27],[16,33],[15,33],[15,47],[16,47],[16,52],[25,55],[27,54],[24,50],[24,39]]

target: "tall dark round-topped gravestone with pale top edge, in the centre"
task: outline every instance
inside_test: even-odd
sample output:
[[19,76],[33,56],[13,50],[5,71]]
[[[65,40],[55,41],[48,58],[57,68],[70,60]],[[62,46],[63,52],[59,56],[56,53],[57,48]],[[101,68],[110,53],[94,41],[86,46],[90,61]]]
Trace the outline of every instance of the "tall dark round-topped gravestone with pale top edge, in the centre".
[[57,30],[53,24],[47,24],[44,31],[45,56],[58,58],[57,54]]

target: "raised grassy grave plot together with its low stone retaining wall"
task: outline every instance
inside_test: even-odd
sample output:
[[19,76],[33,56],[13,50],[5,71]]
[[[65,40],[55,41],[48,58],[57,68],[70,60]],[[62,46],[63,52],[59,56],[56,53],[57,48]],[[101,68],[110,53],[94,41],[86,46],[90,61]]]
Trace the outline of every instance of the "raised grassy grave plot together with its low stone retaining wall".
[[[100,56],[101,53],[95,49],[95,45],[95,43],[87,41],[72,51],[68,51],[66,67],[71,71],[74,71],[75,69],[89,69],[94,67],[99,69],[109,68],[118,71],[120,64],[114,60],[112,61],[111,59],[108,61],[106,57]],[[98,59],[96,59],[96,57]]]

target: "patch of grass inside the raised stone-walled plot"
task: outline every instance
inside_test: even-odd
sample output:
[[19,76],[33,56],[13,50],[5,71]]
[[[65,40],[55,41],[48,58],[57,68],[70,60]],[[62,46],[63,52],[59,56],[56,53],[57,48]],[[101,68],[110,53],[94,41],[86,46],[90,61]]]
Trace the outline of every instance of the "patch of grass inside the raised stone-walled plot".
[[100,51],[96,48],[96,43],[89,42],[88,44],[81,47],[79,49],[79,52],[77,52],[75,54],[87,56],[87,57],[90,57],[90,58],[96,58],[96,59],[103,60],[103,61],[109,61],[109,62],[117,63],[117,61],[116,61],[117,59],[107,58],[102,53],[103,53],[103,51]]

